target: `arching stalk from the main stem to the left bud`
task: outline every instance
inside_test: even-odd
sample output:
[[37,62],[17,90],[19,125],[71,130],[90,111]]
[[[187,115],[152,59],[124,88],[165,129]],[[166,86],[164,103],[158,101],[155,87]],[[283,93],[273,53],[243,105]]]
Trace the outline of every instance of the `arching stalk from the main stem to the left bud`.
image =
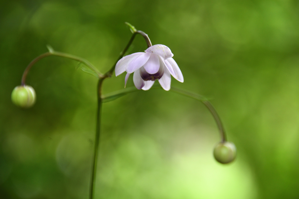
[[85,64],[86,66],[88,66],[92,71],[94,71],[96,74],[97,74],[97,78],[101,78],[103,75],[97,71],[97,69],[89,62],[87,61],[86,59],[83,59],[81,57],[77,57],[77,56],[74,56],[74,55],[71,55],[71,54],[68,54],[68,53],[61,53],[61,52],[57,52],[57,51],[54,51],[54,50],[51,50],[51,52],[47,52],[47,53],[44,53],[42,55],[39,55],[38,57],[34,58],[29,64],[28,66],[26,67],[26,69],[24,70],[23,72],[23,75],[22,75],[22,80],[21,80],[21,84],[22,85],[25,85],[26,84],[26,78],[27,78],[27,74],[29,72],[29,70],[32,68],[32,66],[34,64],[36,64],[36,62],[38,62],[39,60],[41,60],[42,58],[45,58],[45,57],[48,57],[48,56],[51,56],[51,55],[54,55],[54,56],[59,56],[59,57],[64,57],[64,58],[69,58],[69,59],[72,59],[72,60],[75,60],[75,61],[79,61],[83,64]]

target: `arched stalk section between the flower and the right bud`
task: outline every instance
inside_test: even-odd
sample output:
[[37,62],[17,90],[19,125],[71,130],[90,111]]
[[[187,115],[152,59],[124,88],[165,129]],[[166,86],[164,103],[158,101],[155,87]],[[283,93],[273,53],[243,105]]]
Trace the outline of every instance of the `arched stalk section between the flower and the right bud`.
[[216,121],[216,124],[217,124],[218,129],[219,129],[219,133],[220,133],[220,136],[221,136],[221,142],[224,143],[224,142],[227,141],[226,140],[225,130],[223,128],[220,117],[219,117],[218,113],[216,112],[215,108],[213,107],[213,105],[210,103],[210,101],[207,100],[207,98],[205,98],[201,95],[195,94],[193,92],[190,92],[190,91],[181,90],[181,89],[176,88],[176,87],[172,87],[170,91],[179,93],[179,94],[184,95],[186,97],[196,99],[198,101],[201,101],[203,104],[205,104],[205,106],[209,109],[210,113],[213,115],[214,120]]

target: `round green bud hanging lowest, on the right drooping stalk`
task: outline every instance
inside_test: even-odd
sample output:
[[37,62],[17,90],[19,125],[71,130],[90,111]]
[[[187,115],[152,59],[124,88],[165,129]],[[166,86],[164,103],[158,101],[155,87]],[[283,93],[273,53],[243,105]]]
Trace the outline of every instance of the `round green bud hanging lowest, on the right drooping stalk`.
[[220,142],[214,148],[214,158],[222,164],[234,161],[236,155],[237,149],[232,142]]

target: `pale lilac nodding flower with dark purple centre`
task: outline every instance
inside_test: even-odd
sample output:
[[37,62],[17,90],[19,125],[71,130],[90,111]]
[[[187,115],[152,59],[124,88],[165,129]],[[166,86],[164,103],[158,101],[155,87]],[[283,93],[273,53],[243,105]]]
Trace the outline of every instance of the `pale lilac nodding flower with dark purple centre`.
[[145,53],[133,53],[121,58],[115,66],[115,75],[127,72],[125,87],[129,75],[134,72],[133,81],[137,89],[149,90],[158,79],[164,90],[170,90],[170,75],[184,82],[181,70],[172,57],[167,46],[156,44],[145,50]]

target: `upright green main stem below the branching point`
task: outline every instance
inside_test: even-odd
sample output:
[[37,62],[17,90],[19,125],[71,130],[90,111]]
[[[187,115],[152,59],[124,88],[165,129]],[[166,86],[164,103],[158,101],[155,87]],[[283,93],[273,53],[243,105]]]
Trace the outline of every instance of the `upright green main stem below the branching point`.
[[102,83],[103,78],[100,78],[97,84],[97,117],[96,117],[96,132],[95,132],[95,143],[94,143],[94,153],[92,157],[91,164],[91,178],[89,186],[89,199],[92,199],[94,196],[96,173],[97,173],[97,157],[100,147],[100,127],[101,127],[101,108],[102,108]]

